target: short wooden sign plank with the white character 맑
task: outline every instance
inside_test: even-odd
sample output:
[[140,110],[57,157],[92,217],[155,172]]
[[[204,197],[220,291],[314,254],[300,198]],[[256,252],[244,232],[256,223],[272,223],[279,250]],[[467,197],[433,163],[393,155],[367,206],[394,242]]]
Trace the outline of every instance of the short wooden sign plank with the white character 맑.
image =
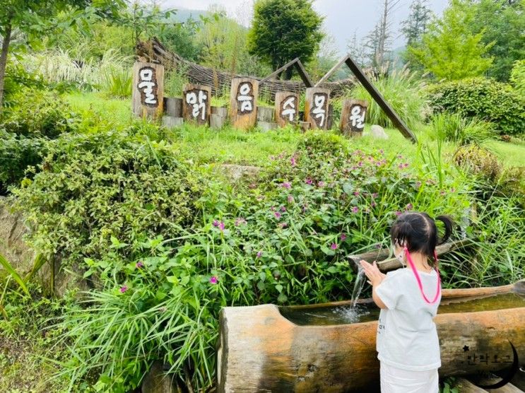
[[187,83],[182,92],[182,117],[184,122],[210,124],[211,88]]

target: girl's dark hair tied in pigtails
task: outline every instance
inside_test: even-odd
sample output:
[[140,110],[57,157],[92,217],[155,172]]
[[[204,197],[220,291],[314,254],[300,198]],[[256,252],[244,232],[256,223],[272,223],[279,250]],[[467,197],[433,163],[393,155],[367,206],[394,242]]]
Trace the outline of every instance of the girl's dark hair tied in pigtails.
[[433,259],[436,245],[446,242],[454,227],[449,216],[437,216],[435,219],[444,223],[444,235],[439,240],[436,223],[427,213],[411,211],[401,214],[390,228],[392,243],[405,244],[409,252],[421,252]]

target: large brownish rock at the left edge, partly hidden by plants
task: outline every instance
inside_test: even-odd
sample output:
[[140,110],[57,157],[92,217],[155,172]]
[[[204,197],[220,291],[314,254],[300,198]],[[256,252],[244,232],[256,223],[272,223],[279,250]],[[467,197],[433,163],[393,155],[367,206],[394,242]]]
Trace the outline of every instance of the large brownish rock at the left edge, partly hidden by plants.
[[23,240],[26,233],[21,213],[11,211],[7,199],[0,197],[0,254],[21,273],[28,273],[35,259],[35,252]]

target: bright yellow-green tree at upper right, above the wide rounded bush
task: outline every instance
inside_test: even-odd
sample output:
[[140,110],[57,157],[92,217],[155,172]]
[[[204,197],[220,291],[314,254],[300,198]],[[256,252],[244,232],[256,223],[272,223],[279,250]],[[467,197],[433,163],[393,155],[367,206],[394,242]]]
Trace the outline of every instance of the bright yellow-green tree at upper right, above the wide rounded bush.
[[483,33],[473,34],[475,10],[468,0],[451,0],[441,19],[435,19],[423,35],[421,45],[408,52],[437,78],[449,80],[480,76],[492,64],[491,44],[484,45]]

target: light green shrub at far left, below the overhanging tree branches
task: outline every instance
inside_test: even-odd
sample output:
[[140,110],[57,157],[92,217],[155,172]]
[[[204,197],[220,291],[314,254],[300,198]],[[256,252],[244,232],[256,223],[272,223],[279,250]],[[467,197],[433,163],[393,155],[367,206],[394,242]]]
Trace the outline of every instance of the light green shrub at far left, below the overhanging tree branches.
[[0,117],[0,126],[7,132],[56,138],[75,129],[76,115],[56,92],[23,88],[11,95],[10,103]]

